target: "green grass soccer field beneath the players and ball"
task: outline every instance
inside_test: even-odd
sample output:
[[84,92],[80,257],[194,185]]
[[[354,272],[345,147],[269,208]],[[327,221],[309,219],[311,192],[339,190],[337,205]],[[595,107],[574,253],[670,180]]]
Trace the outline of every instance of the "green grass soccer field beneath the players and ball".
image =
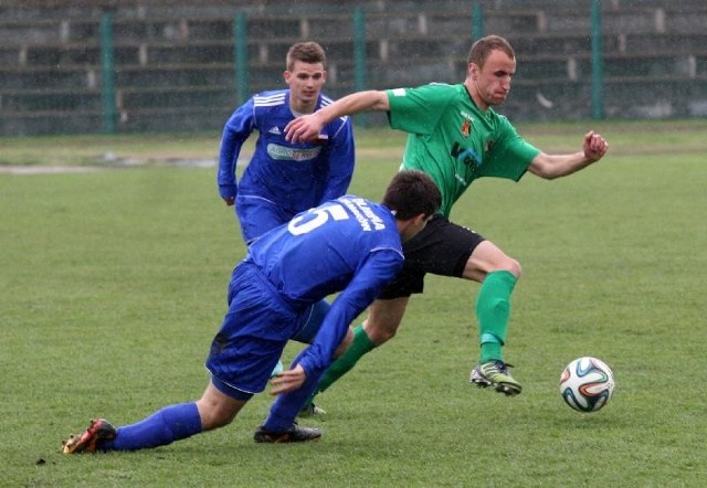
[[[520,131],[551,152],[587,127]],[[398,337],[320,396],[329,414],[303,421],[319,443],[254,444],[263,394],[223,429],[88,456],[63,456],[62,438],[93,416],[127,424],[197,399],[208,381],[244,248],[213,168],[180,162],[212,160],[219,135],[0,139],[0,485],[704,486],[707,121],[599,128],[611,149],[594,168],[482,180],[452,215],[524,266],[506,348],[520,396],[467,383],[478,286],[433,276]],[[378,199],[403,139],[359,138],[351,192]],[[616,376],[598,413],[558,392],[579,356]]]

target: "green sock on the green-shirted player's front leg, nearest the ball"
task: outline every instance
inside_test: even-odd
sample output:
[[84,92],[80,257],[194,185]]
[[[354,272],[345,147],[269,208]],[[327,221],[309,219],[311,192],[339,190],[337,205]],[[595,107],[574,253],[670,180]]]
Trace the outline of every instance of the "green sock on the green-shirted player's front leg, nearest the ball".
[[516,277],[507,270],[486,275],[476,298],[476,318],[482,344],[481,362],[503,361],[502,346],[506,342],[510,317],[510,294]]

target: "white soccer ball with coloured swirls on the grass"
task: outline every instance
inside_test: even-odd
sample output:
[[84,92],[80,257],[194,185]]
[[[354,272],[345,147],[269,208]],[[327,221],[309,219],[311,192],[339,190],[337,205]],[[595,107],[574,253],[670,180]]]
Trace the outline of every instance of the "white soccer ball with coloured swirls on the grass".
[[560,376],[560,394],[564,403],[578,412],[597,412],[614,393],[614,373],[597,358],[578,358]]

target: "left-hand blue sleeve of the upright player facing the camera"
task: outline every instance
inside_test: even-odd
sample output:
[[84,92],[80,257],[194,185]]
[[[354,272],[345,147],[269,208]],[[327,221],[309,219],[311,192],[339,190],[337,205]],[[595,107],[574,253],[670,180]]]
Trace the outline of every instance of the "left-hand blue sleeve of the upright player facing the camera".
[[221,198],[235,198],[238,185],[235,181],[235,165],[241,153],[241,147],[249,138],[255,125],[253,98],[241,105],[225,123],[219,149],[219,171],[217,183]]

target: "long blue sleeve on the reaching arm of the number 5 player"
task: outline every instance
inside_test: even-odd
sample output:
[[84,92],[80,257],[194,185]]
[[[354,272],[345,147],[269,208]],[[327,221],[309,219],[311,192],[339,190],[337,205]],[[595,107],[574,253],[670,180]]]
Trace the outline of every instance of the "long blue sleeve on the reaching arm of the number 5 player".
[[403,256],[393,250],[373,252],[354,279],[331,304],[319,332],[304,351],[299,364],[307,376],[324,372],[346,337],[349,323],[361,314],[402,269]]

